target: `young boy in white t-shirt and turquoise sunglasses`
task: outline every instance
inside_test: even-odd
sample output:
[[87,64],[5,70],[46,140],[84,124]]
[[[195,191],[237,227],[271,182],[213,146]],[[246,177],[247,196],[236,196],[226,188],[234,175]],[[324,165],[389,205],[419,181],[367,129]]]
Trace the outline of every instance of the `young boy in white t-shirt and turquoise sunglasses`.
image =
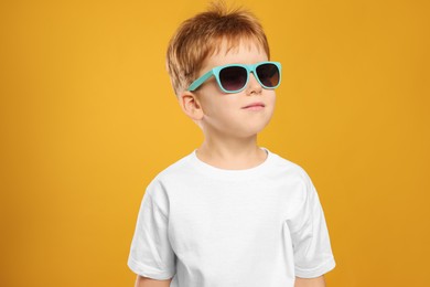
[[325,286],[335,262],[312,181],[257,146],[281,78],[269,56],[257,19],[224,6],[172,38],[172,85],[204,141],[147,188],[128,261],[136,286]]

